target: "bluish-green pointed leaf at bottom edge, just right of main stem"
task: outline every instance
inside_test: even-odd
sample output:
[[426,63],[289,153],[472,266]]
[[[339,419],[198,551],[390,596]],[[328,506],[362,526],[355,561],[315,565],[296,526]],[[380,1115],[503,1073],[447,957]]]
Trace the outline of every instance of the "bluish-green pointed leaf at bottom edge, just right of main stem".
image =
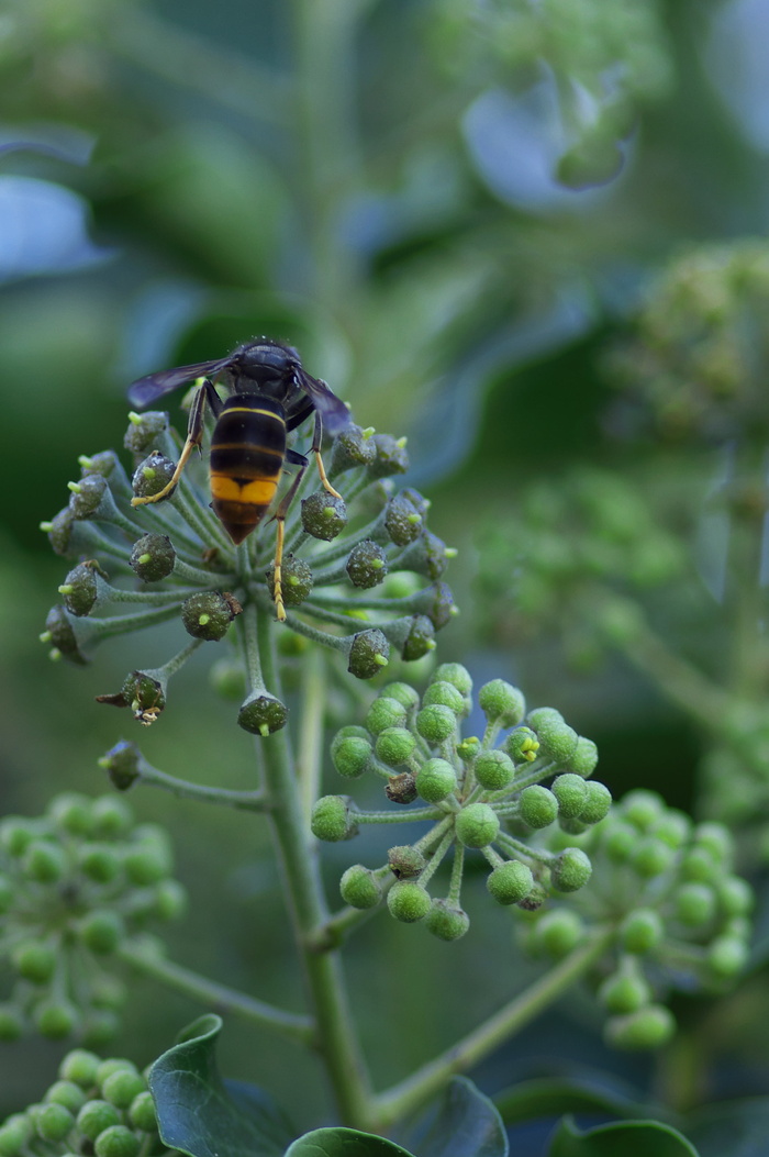
[[506,1157],[508,1135],[496,1107],[468,1081],[454,1077],[406,1141],[419,1157]]

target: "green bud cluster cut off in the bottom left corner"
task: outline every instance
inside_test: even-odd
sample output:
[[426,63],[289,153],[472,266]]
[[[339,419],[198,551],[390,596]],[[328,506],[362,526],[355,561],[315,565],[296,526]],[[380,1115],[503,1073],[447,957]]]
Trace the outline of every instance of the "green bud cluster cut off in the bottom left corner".
[[42,1099],[0,1125],[0,1157],[38,1152],[170,1157],[172,1151],[160,1138],[153,1095],[135,1064],[75,1048]]

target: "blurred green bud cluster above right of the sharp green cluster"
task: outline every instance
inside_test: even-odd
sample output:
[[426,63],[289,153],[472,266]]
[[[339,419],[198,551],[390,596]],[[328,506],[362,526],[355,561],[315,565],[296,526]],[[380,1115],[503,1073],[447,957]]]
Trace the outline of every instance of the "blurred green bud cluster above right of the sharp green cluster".
[[568,486],[530,487],[517,516],[483,531],[481,558],[485,629],[495,643],[556,625],[582,669],[643,629],[629,587],[643,595],[688,567],[680,536],[660,526],[639,487],[594,469],[575,470]]

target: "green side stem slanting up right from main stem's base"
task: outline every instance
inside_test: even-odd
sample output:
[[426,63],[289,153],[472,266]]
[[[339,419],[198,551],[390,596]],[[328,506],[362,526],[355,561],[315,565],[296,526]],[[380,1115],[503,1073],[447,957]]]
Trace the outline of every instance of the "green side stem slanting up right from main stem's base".
[[423,1101],[439,1092],[450,1077],[466,1073],[509,1037],[519,1032],[592,967],[613,936],[613,930],[604,930],[576,948],[451,1048],[428,1061],[406,1081],[376,1097],[377,1128],[387,1129],[394,1121],[414,1112]]

